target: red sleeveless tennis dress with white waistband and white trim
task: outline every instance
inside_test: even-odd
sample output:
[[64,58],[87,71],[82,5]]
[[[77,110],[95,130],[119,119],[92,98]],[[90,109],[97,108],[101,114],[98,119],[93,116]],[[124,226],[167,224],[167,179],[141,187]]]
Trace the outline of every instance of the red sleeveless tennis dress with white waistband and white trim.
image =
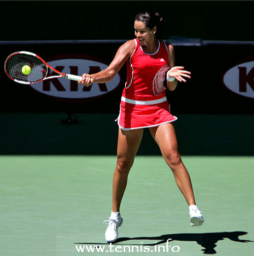
[[158,126],[173,122],[163,86],[168,70],[168,50],[163,41],[154,54],[143,52],[138,39],[127,61],[127,82],[123,90],[118,125],[122,130]]

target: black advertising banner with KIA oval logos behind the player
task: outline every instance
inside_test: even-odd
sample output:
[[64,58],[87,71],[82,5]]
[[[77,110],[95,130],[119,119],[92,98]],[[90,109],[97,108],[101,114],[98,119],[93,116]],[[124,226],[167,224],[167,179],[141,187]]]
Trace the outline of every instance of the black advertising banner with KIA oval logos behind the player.
[[[2,41],[1,111],[118,113],[126,82],[126,65],[111,81],[91,87],[65,79],[21,85],[4,71],[5,59],[26,50],[53,68],[76,75],[105,69],[126,40]],[[170,41],[168,41],[170,42]],[[174,114],[253,114],[254,44],[200,41],[177,44],[176,65],[191,72],[191,79],[167,91]],[[49,75],[53,74],[49,71]]]

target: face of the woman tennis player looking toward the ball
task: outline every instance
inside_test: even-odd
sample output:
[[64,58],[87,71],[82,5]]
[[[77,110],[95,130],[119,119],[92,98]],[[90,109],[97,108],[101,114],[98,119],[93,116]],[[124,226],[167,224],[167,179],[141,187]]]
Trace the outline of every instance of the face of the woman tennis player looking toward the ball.
[[156,27],[152,30],[146,27],[143,21],[135,20],[134,22],[135,36],[141,45],[149,45],[154,43]]

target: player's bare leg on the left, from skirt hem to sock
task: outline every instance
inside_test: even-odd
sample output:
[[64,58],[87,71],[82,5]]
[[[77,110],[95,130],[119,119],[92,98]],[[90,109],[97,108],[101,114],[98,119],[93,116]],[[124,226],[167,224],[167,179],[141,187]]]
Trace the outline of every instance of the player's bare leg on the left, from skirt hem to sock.
[[117,167],[113,177],[112,212],[120,211],[120,204],[127,185],[128,174],[142,140],[143,129],[119,129]]

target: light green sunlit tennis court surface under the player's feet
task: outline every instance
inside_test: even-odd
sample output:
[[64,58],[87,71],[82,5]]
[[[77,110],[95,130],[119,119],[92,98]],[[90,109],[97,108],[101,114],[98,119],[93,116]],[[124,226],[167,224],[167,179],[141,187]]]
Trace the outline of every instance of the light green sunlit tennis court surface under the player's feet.
[[182,158],[203,226],[190,226],[187,204],[164,160],[137,156],[119,242],[109,247],[103,221],[111,211],[116,157],[1,156],[1,254],[251,255],[254,158]]

